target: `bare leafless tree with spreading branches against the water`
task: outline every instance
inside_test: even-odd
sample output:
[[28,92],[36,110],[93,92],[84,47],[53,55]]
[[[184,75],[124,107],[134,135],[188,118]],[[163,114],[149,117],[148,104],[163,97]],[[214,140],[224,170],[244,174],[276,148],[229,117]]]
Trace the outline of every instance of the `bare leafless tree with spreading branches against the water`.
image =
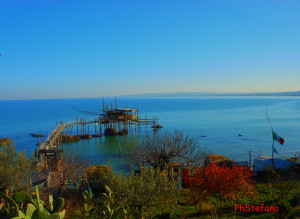
[[199,166],[206,158],[206,153],[200,150],[194,138],[177,130],[146,136],[138,146],[129,150],[128,155],[133,166],[150,165],[160,170],[175,162],[185,166]]

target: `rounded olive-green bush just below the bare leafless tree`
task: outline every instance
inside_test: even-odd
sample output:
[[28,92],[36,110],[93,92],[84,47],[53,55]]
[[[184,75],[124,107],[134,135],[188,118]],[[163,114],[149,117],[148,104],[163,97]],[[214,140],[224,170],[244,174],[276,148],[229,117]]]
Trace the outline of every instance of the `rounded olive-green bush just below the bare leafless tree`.
[[166,211],[174,207],[179,198],[178,186],[168,177],[142,167],[140,175],[118,175],[112,185],[119,205],[128,208],[134,218],[145,218],[151,208]]

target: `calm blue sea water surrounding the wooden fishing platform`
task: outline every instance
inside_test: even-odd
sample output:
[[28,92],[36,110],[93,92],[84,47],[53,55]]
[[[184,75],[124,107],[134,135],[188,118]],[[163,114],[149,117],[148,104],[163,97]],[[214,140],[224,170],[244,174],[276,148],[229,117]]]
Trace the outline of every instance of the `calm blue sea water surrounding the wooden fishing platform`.
[[[105,99],[106,104],[111,101],[114,102]],[[197,138],[200,147],[207,151],[237,161],[248,160],[250,150],[253,156],[271,154],[271,131],[265,115],[268,106],[274,130],[286,141],[283,146],[275,144],[279,152],[276,156],[287,158],[300,152],[300,98],[144,98],[118,99],[117,104],[138,108],[141,117],[158,116],[164,127],[159,132],[182,130]],[[72,107],[99,112],[102,99],[0,101],[0,137],[10,137],[18,150],[31,153],[38,139],[29,133],[50,133],[56,121],[94,118]],[[93,130],[91,126],[90,131]],[[95,163],[106,164],[110,160],[117,167],[122,163],[118,156],[119,144],[125,150],[145,133],[144,128],[139,135],[81,140],[65,144],[65,149]],[[152,130],[148,129],[148,133],[152,134]],[[203,135],[207,137],[201,137]]]

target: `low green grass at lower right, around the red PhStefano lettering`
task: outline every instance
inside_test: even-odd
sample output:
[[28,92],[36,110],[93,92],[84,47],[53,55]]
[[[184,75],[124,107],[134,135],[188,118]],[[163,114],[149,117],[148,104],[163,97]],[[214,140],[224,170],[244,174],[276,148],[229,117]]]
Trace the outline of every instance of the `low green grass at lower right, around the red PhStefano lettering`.
[[[300,181],[281,183],[260,183],[256,185],[256,197],[244,196],[235,201],[226,200],[222,214],[215,207],[218,200],[208,198],[195,204],[189,200],[189,190],[182,190],[180,201],[174,209],[168,209],[163,214],[152,209],[150,218],[300,218]],[[235,212],[236,203],[243,206],[278,206],[279,212]]]

